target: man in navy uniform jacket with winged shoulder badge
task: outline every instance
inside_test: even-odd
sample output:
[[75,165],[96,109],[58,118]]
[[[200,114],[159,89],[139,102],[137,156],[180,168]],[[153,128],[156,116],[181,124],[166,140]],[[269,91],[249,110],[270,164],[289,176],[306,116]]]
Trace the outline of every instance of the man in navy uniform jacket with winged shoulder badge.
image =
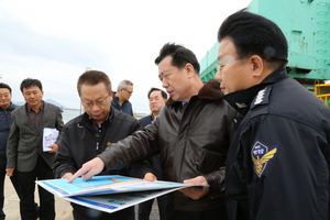
[[229,218],[329,219],[330,112],[288,77],[280,29],[239,11],[218,40],[216,77],[244,116],[226,166]]

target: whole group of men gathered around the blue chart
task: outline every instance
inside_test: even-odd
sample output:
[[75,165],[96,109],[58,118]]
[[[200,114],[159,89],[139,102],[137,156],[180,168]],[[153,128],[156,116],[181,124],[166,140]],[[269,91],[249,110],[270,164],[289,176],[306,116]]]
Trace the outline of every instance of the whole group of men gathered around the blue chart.
[[[85,112],[66,124],[62,110],[42,100],[40,80],[22,81],[21,107],[0,84],[0,206],[6,174],[24,220],[56,218],[52,194],[38,188],[35,204],[36,179],[118,174],[199,185],[160,198],[162,220],[330,219],[330,112],[288,77],[285,35],[241,10],[223,21],[218,41],[218,72],[207,82],[194,52],[161,48],[155,77],[167,94],[152,88],[152,113],[140,121],[129,102],[133,84],[123,80],[113,92],[100,70],[79,76]],[[59,131],[47,151],[45,128]],[[151,204],[140,205],[139,219],[150,218]],[[75,220],[135,219],[133,207],[107,213],[72,206]]]

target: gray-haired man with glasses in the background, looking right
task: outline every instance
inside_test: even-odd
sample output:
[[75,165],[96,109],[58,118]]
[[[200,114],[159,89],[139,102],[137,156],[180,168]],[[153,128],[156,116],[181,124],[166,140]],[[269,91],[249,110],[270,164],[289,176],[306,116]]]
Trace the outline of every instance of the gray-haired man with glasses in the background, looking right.
[[111,106],[117,111],[133,116],[132,103],[129,101],[133,94],[133,82],[122,80],[117,88],[117,92],[112,97]]

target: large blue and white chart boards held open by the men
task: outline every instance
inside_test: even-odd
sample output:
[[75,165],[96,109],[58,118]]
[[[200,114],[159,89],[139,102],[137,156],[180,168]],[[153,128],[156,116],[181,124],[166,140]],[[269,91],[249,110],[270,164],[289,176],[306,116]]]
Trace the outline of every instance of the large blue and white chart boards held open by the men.
[[109,213],[177,189],[201,187],[173,182],[147,182],[120,175],[95,176],[87,182],[77,178],[72,184],[67,179],[37,180],[36,184],[63,199]]

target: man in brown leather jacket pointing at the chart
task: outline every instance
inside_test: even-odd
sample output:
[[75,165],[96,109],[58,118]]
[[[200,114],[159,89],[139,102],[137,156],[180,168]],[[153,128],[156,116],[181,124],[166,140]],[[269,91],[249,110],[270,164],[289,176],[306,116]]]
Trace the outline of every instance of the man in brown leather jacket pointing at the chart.
[[110,145],[84,164],[69,182],[84,179],[130,160],[161,153],[165,180],[209,185],[175,191],[172,219],[223,220],[224,162],[237,111],[223,99],[219,82],[204,85],[195,54],[177,44],[165,44],[155,59],[158,78],[169,95],[161,114],[142,132]]

